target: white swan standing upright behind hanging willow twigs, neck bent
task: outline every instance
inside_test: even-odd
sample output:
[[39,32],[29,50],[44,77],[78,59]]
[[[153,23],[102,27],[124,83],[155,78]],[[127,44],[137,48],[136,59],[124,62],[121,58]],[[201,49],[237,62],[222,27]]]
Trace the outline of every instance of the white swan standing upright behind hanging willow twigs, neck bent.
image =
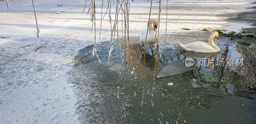
[[148,31],[146,44],[152,45],[152,54],[154,54],[154,51],[153,51],[154,44],[158,40],[158,33],[156,32],[157,25],[158,25],[157,20],[155,18],[150,18],[148,22],[148,29],[144,29],[140,36],[140,42],[142,43],[142,48],[144,49],[144,43],[146,40],[147,31]]

